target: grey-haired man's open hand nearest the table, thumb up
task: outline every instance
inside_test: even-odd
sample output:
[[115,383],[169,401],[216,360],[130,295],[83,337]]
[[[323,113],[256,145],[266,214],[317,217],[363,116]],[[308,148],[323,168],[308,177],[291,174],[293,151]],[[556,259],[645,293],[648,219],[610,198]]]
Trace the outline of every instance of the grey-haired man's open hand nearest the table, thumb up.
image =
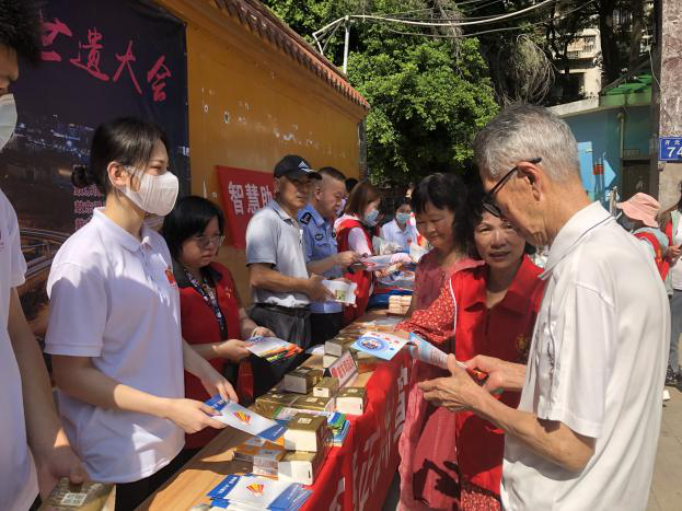
[[419,383],[424,398],[436,406],[444,406],[450,411],[471,410],[481,396],[487,394],[479,387],[466,371],[456,365],[454,355],[448,356],[449,378],[438,378]]

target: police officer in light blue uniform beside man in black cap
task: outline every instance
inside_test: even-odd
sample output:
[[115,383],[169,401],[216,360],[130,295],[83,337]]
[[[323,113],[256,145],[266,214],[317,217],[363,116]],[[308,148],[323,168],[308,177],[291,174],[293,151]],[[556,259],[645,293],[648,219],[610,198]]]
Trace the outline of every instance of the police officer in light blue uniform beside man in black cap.
[[[337,252],[333,223],[346,195],[346,176],[334,167],[319,171],[322,179],[312,184],[310,202],[299,211],[303,230],[303,252],[308,271],[327,279],[340,278],[344,269],[359,262],[359,254]],[[343,324],[343,304],[331,301],[310,304],[312,344],[322,344],[338,334]]]

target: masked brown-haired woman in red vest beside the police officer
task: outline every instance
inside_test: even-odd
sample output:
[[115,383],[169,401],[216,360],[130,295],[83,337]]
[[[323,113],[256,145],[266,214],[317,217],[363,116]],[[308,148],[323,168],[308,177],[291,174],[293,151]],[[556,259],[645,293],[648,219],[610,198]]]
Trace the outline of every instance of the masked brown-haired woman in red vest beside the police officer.
[[[344,216],[334,223],[338,252],[354,251],[362,256],[372,255],[372,236],[377,234],[380,191],[367,179],[359,182],[348,196]],[[358,284],[356,306],[344,307],[344,325],[365,314],[373,288],[371,271],[347,272],[345,278]]]

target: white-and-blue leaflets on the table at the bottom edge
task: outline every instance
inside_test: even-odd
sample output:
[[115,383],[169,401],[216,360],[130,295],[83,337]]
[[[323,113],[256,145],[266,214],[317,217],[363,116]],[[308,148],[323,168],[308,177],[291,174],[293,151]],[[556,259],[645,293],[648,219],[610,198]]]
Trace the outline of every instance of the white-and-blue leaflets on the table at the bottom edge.
[[274,511],[297,510],[312,495],[297,483],[282,483],[253,476],[228,476],[211,491],[211,509]]

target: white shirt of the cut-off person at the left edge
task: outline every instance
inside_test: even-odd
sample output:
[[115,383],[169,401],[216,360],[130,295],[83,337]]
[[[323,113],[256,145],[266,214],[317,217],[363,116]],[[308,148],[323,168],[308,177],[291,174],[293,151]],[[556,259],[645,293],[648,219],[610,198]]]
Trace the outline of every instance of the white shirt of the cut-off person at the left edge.
[[21,374],[8,333],[10,293],[24,283],[14,208],[0,191],[0,509],[24,511],[38,495],[33,457],[26,443]]

